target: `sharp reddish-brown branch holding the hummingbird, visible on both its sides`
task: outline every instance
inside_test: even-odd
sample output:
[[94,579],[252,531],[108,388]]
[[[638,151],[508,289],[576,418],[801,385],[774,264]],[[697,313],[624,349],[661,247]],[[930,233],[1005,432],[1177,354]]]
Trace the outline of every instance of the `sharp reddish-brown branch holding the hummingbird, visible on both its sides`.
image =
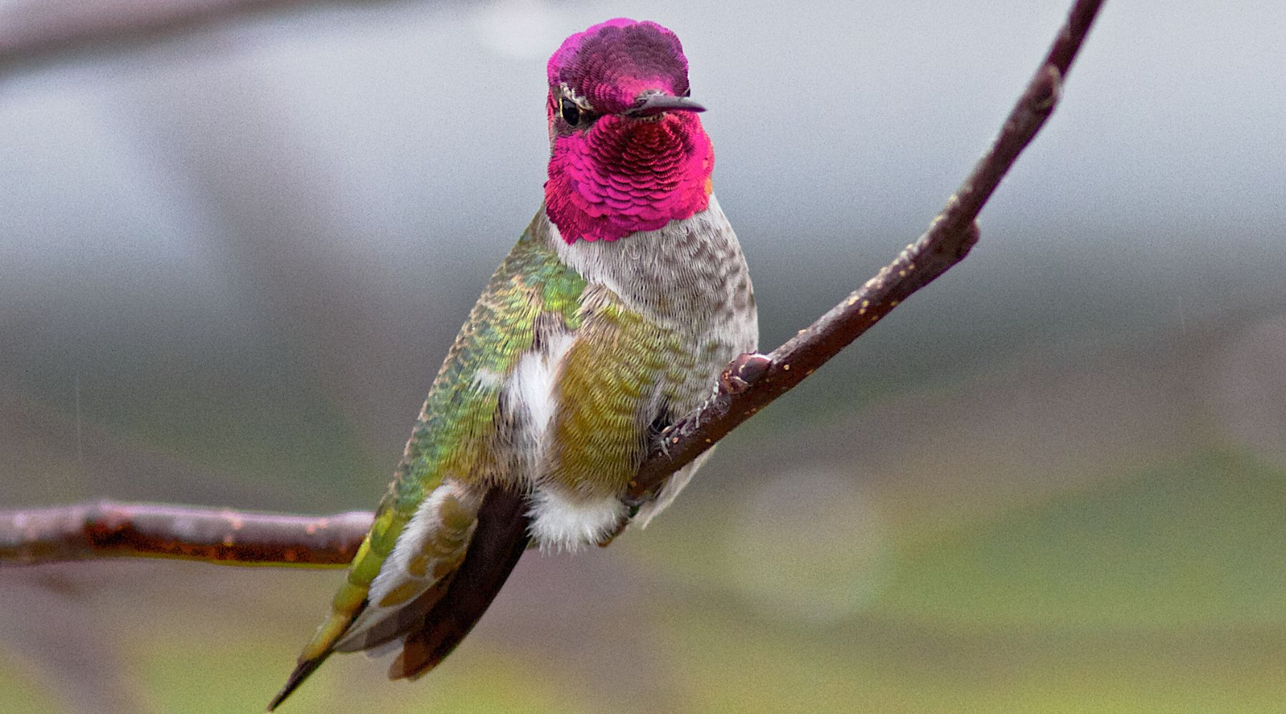
[[[716,394],[661,434],[630,484],[631,498],[655,491],[968,254],[979,239],[979,212],[1053,113],[1067,69],[1101,5],[1102,0],[1076,0],[992,148],[925,235],[786,344],[766,356],[743,354],[733,361],[720,375]],[[9,511],[0,512],[0,562],[161,556],[225,564],[341,565],[356,552],[370,518],[363,512],[306,518],[107,501]]]

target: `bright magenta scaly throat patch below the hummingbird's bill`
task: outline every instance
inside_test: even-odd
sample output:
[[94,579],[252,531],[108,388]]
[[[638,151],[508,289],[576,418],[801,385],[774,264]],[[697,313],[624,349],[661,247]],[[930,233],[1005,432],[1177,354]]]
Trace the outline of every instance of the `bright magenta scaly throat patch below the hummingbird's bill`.
[[691,112],[604,116],[556,136],[545,211],[563,240],[617,240],[706,209],[714,146]]

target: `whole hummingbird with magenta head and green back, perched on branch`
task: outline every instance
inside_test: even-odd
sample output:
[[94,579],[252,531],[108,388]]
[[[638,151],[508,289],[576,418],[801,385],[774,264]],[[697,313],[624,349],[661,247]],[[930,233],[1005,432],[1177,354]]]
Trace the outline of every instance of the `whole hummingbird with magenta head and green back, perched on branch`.
[[679,39],[617,18],[550,57],[544,203],[448,352],[332,613],[275,709],[331,654],[414,679],[468,634],[530,546],[607,544],[665,509],[628,487],[658,434],[754,352],[741,245]]

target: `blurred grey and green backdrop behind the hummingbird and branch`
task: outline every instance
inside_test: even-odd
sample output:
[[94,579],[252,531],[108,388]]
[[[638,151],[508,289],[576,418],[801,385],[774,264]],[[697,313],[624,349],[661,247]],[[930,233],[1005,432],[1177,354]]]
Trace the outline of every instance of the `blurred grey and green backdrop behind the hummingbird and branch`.
[[[1066,6],[273,4],[0,55],[0,507],[372,507],[571,32],[683,39],[773,347],[923,230]],[[334,657],[283,711],[1282,711],[1282,27],[1110,1],[964,263],[431,677]],[[258,711],[341,577],[0,570],[0,710]]]

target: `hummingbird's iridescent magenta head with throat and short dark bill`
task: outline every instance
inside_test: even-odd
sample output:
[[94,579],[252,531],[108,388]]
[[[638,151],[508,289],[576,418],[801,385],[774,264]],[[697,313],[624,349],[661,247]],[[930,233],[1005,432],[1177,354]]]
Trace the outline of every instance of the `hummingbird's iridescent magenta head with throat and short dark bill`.
[[549,58],[545,209],[563,240],[617,240],[703,211],[714,149],[673,32],[617,18]]

